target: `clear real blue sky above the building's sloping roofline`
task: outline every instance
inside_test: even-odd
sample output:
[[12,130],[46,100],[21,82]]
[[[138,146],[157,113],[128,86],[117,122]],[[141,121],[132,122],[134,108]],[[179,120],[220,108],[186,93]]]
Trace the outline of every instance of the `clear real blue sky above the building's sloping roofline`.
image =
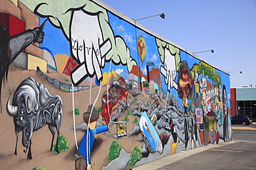
[[[230,72],[230,87],[256,85],[256,0],[103,0],[137,21]],[[243,74],[239,74],[242,71]]]

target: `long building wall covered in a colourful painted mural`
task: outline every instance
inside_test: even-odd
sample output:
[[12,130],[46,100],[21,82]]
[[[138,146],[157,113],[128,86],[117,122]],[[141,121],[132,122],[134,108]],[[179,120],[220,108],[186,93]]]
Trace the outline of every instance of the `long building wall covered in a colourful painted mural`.
[[3,169],[129,169],[231,139],[229,74],[101,1],[0,0],[0,59]]

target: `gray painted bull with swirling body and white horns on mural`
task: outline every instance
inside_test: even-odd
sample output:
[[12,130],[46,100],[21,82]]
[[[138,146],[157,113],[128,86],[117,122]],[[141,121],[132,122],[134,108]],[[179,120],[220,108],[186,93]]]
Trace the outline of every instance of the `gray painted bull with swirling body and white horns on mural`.
[[[8,88],[8,90],[10,90]],[[60,96],[52,96],[44,85],[37,83],[32,77],[26,78],[17,87],[13,95],[12,104],[10,104],[11,92],[6,104],[7,112],[13,116],[15,123],[15,133],[17,136],[15,155],[17,155],[17,142],[19,131],[22,131],[22,144],[28,149],[27,159],[31,156],[31,137],[33,131],[48,125],[53,140],[55,138],[55,130],[57,136],[60,135],[60,125],[62,124],[62,99]],[[51,151],[53,149],[53,140],[51,142]],[[56,142],[55,152],[59,153],[58,141]]]

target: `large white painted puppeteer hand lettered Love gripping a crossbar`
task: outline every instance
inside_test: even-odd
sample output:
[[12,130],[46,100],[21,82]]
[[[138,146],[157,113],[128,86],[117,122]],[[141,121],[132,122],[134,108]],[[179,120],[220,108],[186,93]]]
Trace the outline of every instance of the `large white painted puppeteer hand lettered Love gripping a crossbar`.
[[73,83],[78,85],[84,78],[94,75],[100,82],[104,56],[111,50],[111,43],[109,39],[103,40],[98,14],[86,14],[82,10],[73,12],[70,43],[72,55],[80,64],[71,72]]

